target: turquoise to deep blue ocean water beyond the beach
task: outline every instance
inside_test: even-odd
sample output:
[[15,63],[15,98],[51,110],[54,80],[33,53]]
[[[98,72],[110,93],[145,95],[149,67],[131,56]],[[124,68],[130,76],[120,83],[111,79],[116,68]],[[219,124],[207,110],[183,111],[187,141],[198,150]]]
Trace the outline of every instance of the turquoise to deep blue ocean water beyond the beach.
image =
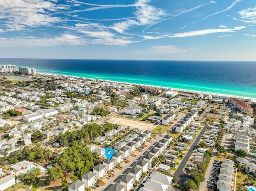
[[256,62],[0,59],[0,65],[71,75],[256,98]]

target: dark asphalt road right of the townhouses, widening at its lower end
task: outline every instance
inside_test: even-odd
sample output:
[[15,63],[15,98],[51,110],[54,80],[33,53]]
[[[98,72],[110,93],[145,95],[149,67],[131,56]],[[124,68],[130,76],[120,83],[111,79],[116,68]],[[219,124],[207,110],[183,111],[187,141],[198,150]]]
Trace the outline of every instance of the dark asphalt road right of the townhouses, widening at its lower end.
[[194,152],[198,142],[200,141],[201,137],[203,136],[204,132],[206,131],[208,127],[208,124],[204,122],[204,128],[201,130],[201,132],[199,133],[199,135],[197,136],[196,140],[194,141],[194,143],[192,144],[192,146],[190,147],[190,149],[188,150],[187,154],[184,156],[183,160],[181,161],[180,165],[178,166],[178,168],[176,169],[176,171],[174,172],[174,175],[178,178],[178,184],[182,184],[184,183],[186,180],[188,179],[192,179],[192,177],[188,174],[185,174],[183,172],[183,169],[186,165],[186,163],[188,162],[190,156],[192,155],[192,153]]

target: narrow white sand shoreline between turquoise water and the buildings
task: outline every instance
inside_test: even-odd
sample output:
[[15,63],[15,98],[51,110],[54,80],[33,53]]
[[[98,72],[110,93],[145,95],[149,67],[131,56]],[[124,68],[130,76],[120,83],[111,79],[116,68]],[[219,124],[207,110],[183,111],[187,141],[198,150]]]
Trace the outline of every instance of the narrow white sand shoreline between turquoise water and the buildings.
[[[37,73],[37,75],[51,75],[51,76],[66,76],[68,77],[69,75],[62,75],[62,74],[52,74],[52,73]],[[78,76],[71,76],[70,77],[77,77],[77,78],[82,78],[82,79],[90,79],[90,80],[96,80],[94,78],[88,78],[88,77],[78,77]],[[98,78],[97,78],[98,79]],[[129,85],[139,85],[141,87],[146,86],[146,87],[154,87],[154,88],[159,88],[159,89],[169,89],[172,91],[180,91],[180,92],[186,92],[186,93],[197,93],[197,94],[208,94],[212,95],[214,98],[230,98],[230,97],[236,97],[236,98],[241,98],[241,99],[248,99],[252,100],[253,102],[256,101],[256,97],[246,97],[246,96],[237,96],[237,95],[228,95],[228,94],[222,94],[222,93],[213,93],[213,92],[207,92],[207,91],[196,91],[196,90],[188,90],[188,89],[179,89],[179,88],[172,88],[172,87],[162,87],[162,86],[156,86],[156,85],[147,85],[147,84],[138,84],[138,83],[129,83],[129,82],[120,82],[120,81],[113,81],[113,80],[103,80],[103,79],[98,79],[101,81],[106,81],[106,82],[114,82],[114,83],[123,83],[123,84],[129,84]],[[220,96],[220,97],[218,97]]]

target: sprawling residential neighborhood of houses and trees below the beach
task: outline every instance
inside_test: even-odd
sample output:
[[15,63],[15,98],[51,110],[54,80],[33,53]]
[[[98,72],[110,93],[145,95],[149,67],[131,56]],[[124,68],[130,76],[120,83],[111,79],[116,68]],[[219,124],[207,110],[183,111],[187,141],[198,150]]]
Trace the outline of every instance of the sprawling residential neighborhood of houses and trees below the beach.
[[251,186],[238,173],[255,178],[249,100],[62,75],[0,80],[1,191],[229,191]]

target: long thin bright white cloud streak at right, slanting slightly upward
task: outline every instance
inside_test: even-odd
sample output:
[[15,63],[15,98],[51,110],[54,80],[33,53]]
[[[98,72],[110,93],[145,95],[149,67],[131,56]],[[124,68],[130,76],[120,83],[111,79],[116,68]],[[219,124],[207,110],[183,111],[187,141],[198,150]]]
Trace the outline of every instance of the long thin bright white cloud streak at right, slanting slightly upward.
[[206,30],[198,30],[198,31],[191,31],[191,32],[184,32],[184,33],[176,33],[173,35],[159,35],[159,36],[148,36],[145,35],[143,36],[144,39],[161,39],[161,38],[165,38],[165,37],[177,37],[177,38],[181,38],[181,37],[191,37],[191,36],[200,36],[200,35],[207,35],[207,34],[211,34],[211,33],[226,33],[226,32],[235,32],[237,30],[242,30],[246,28],[245,26],[240,26],[240,27],[234,27],[232,29],[229,28],[223,28],[223,29],[206,29]]

